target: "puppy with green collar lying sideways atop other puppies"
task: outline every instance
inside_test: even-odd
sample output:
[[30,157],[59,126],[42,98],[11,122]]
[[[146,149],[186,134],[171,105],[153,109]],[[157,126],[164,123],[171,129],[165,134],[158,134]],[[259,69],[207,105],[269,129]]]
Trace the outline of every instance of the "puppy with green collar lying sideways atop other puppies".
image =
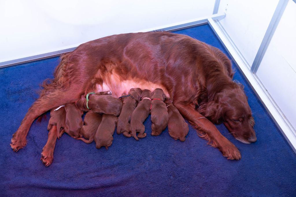
[[122,108],[122,102],[118,98],[108,94],[111,94],[111,91],[89,94],[88,102],[86,101],[86,98],[81,95],[81,99],[77,101],[76,105],[84,112],[87,112],[89,109],[91,109],[91,111],[96,113],[112,114],[118,116]]

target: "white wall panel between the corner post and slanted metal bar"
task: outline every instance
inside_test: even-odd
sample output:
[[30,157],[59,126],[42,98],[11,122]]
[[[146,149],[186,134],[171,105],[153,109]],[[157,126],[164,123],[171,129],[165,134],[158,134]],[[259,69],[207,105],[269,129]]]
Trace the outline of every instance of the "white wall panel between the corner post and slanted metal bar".
[[278,0],[221,0],[220,23],[249,65],[252,65]]

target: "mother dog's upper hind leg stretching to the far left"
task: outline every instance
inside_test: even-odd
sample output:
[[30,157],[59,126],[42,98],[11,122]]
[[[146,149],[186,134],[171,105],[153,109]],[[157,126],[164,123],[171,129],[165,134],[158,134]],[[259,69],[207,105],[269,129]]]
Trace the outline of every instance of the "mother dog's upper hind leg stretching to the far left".
[[30,126],[38,116],[55,107],[73,103],[84,93],[84,89],[82,85],[72,85],[67,90],[53,89],[48,93],[41,94],[42,96],[29,108],[18,130],[12,135],[10,146],[13,151],[17,152],[20,148],[26,146],[26,137]]

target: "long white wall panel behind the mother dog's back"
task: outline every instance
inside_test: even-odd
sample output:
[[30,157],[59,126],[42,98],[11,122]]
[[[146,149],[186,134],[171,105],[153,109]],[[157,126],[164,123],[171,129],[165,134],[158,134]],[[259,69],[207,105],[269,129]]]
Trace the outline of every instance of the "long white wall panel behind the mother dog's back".
[[215,0],[0,1],[0,62],[213,13]]

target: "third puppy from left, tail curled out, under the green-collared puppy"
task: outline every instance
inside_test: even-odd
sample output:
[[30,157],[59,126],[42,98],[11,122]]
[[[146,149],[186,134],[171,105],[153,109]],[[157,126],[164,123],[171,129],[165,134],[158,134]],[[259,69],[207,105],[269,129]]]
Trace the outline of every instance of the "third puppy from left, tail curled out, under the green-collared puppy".
[[[80,138],[85,143],[94,141],[94,134],[102,121],[102,115],[89,110],[84,117],[84,125],[80,129]],[[88,139],[88,140],[86,140]]]

